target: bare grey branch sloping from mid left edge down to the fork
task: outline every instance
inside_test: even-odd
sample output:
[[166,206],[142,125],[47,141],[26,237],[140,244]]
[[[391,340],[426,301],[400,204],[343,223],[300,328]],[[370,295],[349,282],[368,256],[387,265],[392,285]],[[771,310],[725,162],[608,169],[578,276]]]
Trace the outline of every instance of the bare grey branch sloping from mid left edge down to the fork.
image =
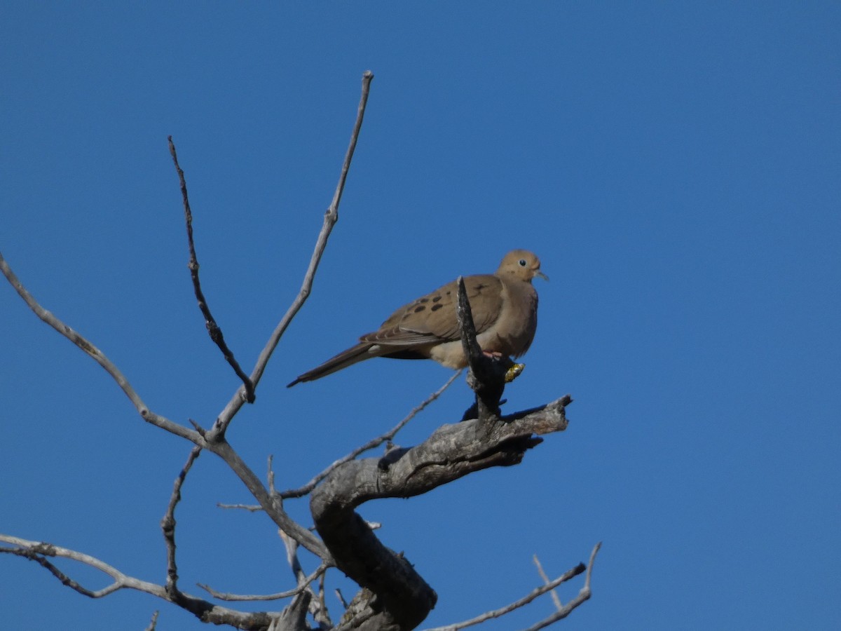
[[161,427],[161,429],[165,429],[167,432],[172,432],[182,438],[187,438],[193,443],[201,444],[203,442],[202,437],[198,434],[198,432],[193,432],[187,427],[182,427],[176,422],[172,422],[163,416],[158,416],[155,412],[151,411],[143,400],[140,399],[140,395],[138,395],[137,392],[135,392],[135,389],[131,387],[129,380],[125,378],[124,374],[119,371],[114,363],[112,363],[102,351],[93,346],[91,342],[88,342],[87,339],[77,333],[77,331],[74,331],[70,326],[67,326],[64,322],[59,320],[56,315],[53,315],[50,311],[45,310],[44,307],[38,304],[38,301],[34,299],[32,294],[29,294],[29,291],[26,290],[24,284],[20,282],[19,278],[12,271],[12,268],[8,266],[8,263],[6,262],[6,259],[3,258],[2,253],[0,253],[0,272],[3,272],[3,276],[6,277],[9,284],[13,286],[15,291],[18,292],[18,295],[24,299],[24,302],[27,305],[29,305],[29,309],[33,310],[34,314],[37,315],[41,321],[52,326],[56,329],[56,331],[61,333],[61,335],[76,344],[77,347],[81,348],[84,353],[93,358],[96,363],[102,366],[103,369],[111,375],[111,378],[117,382],[117,385],[119,385],[120,390],[123,390],[124,394],[129,397],[129,400],[132,404],[134,404],[135,409],[144,421],[150,422],[152,425]]

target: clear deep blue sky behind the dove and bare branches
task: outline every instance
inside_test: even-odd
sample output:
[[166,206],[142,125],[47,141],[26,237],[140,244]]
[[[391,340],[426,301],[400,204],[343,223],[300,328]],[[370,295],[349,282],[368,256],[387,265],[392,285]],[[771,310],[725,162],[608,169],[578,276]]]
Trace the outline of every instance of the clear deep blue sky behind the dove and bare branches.
[[[569,430],[518,467],[361,509],[438,592],[426,626],[530,591],[532,554],[558,575],[603,541],[564,628],[841,628],[839,31],[830,2],[6,2],[0,248],[152,409],[207,426],[237,383],[194,305],[167,135],[205,293],[251,367],[299,288],[370,69],[341,220],[235,448],[261,473],[274,454],[286,488],[392,427],[447,369],[376,360],[283,386],[526,247],[551,282],[506,407],[569,392]],[[0,353],[0,532],[163,582],[158,522],[188,444],[8,286]],[[460,381],[398,442],[468,403]],[[217,501],[248,497],[204,454],[177,512],[182,586],[288,588],[271,523]],[[158,628],[205,628],[0,556],[5,628],[140,629],[159,608]]]

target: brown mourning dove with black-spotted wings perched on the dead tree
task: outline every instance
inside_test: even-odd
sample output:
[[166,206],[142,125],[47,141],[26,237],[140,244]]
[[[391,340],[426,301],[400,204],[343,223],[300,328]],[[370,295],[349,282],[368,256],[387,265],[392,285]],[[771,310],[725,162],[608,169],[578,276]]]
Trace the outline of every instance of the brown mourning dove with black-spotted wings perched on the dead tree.
[[[537,292],[532,278],[547,278],[540,259],[526,250],[503,257],[494,274],[464,278],[470,300],[476,339],[484,353],[520,357],[526,353],[537,329]],[[373,333],[359,338],[356,346],[300,375],[288,388],[313,381],[375,357],[431,358],[447,368],[462,369],[467,357],[456,317],[456,281],[394,311]]]

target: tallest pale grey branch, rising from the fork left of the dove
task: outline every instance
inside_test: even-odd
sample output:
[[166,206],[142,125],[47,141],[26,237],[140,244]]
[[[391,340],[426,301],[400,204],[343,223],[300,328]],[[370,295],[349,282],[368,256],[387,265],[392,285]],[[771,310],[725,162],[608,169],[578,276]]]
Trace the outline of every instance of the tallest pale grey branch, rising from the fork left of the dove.
[[[319,232],[318,239],[315,241],[315,250],[313,251],[312,257],[309,259],[309,267],[307,268],[307,271],[304,274],[304,281],[301,284],[301,289],[299,290],[298,295],[295,297],[295,300],[293,301],[292,305],[289,306],[286,314],[283,315],[281,321],[278,322],[278,326],[276,326],[275,330],[272,331],[272,336],[269,337],[266,347],[262,349],[260,357],[257,358],[257,363],[255,364],[254,369],[251,371],[251,383],[254,384],[255,388],[257,388],[257,384],[260,382],[263,371],[266,370],[268,360],[272,357],[272,353],[274,352],[275,347],[278,346],[280,338],[283,337],[283,332],[286,331],[287,327],[292,322],[295,315],[298,314],[301,307],[304,306],[304,302],[309,297],[309,294],[312,291],[313,281],[315,280],[315,272],[318,269],[319,263],[321,261],[321,256],[324,254],[325,247],[327,246],[327,240],[330,238],[331,232],[333,231],[333,226],[336,225],[336,221],[339,220],[339,202],[341,201],[341,194],[345,188],[347,172],[350,170],[351,167],[353,151],[355,151],[357,146],[359,131],[362,129],[362,119],[365,116],[365,106],[368,103],[368,92],[370,90],[372,80],[372,72],[366,71],[362,75],[362,96],[359,98],[359,106],[357,108],[357,120],[356,123],[353,125],[351,143],[347,147],[345,160],[344,162],[342,162],[341,165],[341,174],[339,176],[339,183],[336,186],[336,192],[333,194],[333,201],[331,202],[330,207],[325,212],[324,224],[321,226],[321,231]],[[241,388],[236,391],[235,395],[228,402],[228,405],[225,406],[225,410],[222,411],[219,418],[216,420],[216,423],[214,425],[214,431],[225,433],[225,429],[228,427],[231,419],[234,417],[236,412],[240,410],[242,404],[245,402],[245,396],[245,386],[241,386]]]

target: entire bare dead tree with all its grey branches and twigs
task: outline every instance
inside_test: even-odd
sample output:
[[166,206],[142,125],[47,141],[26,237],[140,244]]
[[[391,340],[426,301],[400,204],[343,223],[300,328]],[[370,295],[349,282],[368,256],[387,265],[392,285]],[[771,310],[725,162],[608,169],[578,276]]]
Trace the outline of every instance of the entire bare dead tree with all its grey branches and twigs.
[[[542,442],[539,435],[563,431],[567,427],[565,407],[571,402],[571,398],[567,395],[547,406],[500,418],[499,405],[500,397],[505,389],[505,372],[515,364],[510,361],[510,358],[489,357],[482,352],[476,342],[473,317],[462,278],[458,279],[458,326],[470,365],[468,383],[476,393],[477,411],[475,419],[455,425],[445,425],[436,430],[424,443],[414,448],[392,448],[389,444],[389,452],[383,458],[357,459],[358,456],[369,449],[376,448],[386,442],[390,443],[402,427],[405,427],[432,400],[436,400],[458,378],[458,374],[456,374],[441,389],[411,411],[392,430],[337,460],[306,485],[299,489],[284,491],[279,495],[274,485],[271,457],[268,463],[267,485],[264,485],[262,480],[236,453],[225,436],[230,422],[241,410],[243,404],[246,401],[253,402],[257,384],[262,378],[272,353],[288,325],[298,314],[312,291],[315,273],[327,241],[331,236],[331,231],[338,220],[339,204],[362,127],[372,80],[373,74],[365,72],[362,77],[362,95],[357,108],[357,118],[352,130],[350,145],[342,163],[336,191],[329,208],[325,212],[324,222],[310,258],[309,267],[304,274],[299,294],[278,322],[278,326],[272,331],[250,376],[244,373],[236,362],[233,353],[230,352],[230,348],[225,344],[222,331],[214,321],[201,289],[198,258],[193,241],[193,215],[189,205],[186,180],[178,164],[172,136],[168,138],[172,160],[177,169],[182,190],[190,252],[188,267],[193,279],[193,290],[199,308],[204,315],[210,337],[220,347],[226,360],[242,381],[242,385],[236,390],[235,395],[225,405],[225,408],[220,412],[220,416],[216,418],[213,427],[209,430],[205,430],[192,420],[190,422],[193,423],[194,429],[191,430],[151,412],[114,363],[111,363],[98,348],[94,347],[77,331],[66,326],[34,300],[0,254],[0,271],[3,271],[9,283],[13,285],[21,298],[42,321],[55,328],[56,331],[59,331],[96,360],[119,384],[119,387],[129,397],[146,422],[186,438],[194,445],[186,464],[184,464],[173,484],[167,512],[161,519],[161,529],[167,548],[167,580],[164,586],[140,581],[124,575],[113,566],[105,564],[99,559],[73,550],[59,548],[52,544],[0,535],[0,543],[6,543],[10,546],[0,546],[0,553],[17,555],[38,563],[55,575],[63,584],[87,597],[103,597],[124,588],[145,591],[192,612],[204,622],[229,624],[236,628],[260,629],[260,631],[266,631],[267,628],[271,631],[302,631],[304,628],[309,628],[306,624],[308,610],[313,613],[320,628],[332,628],[324,597],[325,572],[328,568],[334,566],[345,572],[362,587],[362,590],[352,599],[350,606],[346,608],[345,615],[342,616],[341,622],[336,626],[337,630],[355,628],[360,631],[405,631],[405,629],[415,628],[426,618],[431,607],[434,607],[436,603],[435,591],[426,584],[426,581],[415,571],[402,553],[396,554],[380,543],[373,533],[373,525],[365,522],[355,512],[357,506],[365,501],[383,497],[420,495],[480,469],[518,464],[524,457],[526,450]],[[190,596],[177,586],[175,510],[181,500],[181,488],[184,480],[202,449],[207,449],[224,460],[259,503],[257,508],[245,505],[236,506],[248,510],[262,509],[277,524],[287,549],[289,565],[294,572],[298,585],[294,590],[269,596],[237,596],[214,591],[208,586],[199,586],[214,597],[231,601],[265,601],[293,597],[293,601],[283,612],[237,612]],[[308,493],[311,493],[310,510],[315,520],[315,528],[321,539],[308,528],[294,522],[283,507],[284,498],[300,497]],[[303,545],[305,549],[320,558],[319,567],[310,575],[304,574],[300,564],[298,558],[299,545]],[[596,545],[590,555],[590,566],[586,568],[584,588],[579,592],[579,596],[562,607],[557,595],[553,593],[557,611],[553,613],[553,616],[537,623],[533,627],[534,629],[543,628],[569,615],[569,612],[575,607],[590,598],[590,574],[598,549],[599,545]],[[60,570],[50,560],[54,557],[72,559],[89,565],[110,576],[112,582],[101,590],[89,590],[77,581],[73,581],[70,576]],[[531,602],[540,594],[552,591],[561,582],[567,581],[572,576],[584,571],[584,565],[579,565],[555,581],[548,581],[539,562],[537,562],[537,565],[546,585],[532,591],[527,597],[511,603],[507,607],[495,612],[487,612],[479,618],[452,625],[447,629],[463,628],[513,611]],[[319,579],[317,593],[315,586],[313,586],[313,581],[316,579]],[[157,613],[152,618],[150,628],[155,628],[156,621]]]

